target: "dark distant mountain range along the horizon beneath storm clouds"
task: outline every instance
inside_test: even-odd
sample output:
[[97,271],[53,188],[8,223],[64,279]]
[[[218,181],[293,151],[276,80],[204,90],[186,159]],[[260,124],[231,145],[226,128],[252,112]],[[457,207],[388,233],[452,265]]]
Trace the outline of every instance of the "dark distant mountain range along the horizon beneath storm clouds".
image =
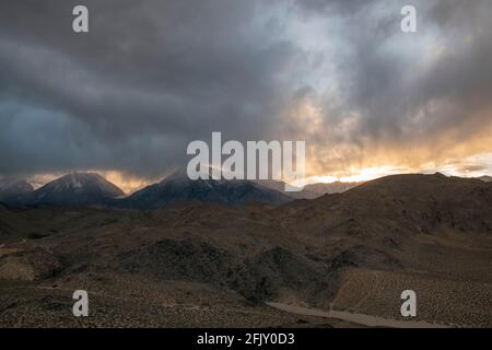
[[[479,179],[490,182],[489,176]],[[218,202],[243,206],[262,202],[280,206],[296,199],[316,199],[327,194],[341,194],[364,183],[329,183],[306,185],[300,191],[285,191],[278,180],[190,180],[185,172],[176,171],[156,184],[129,196],[96,173],[72,173],[34,189],[25,180],[0,184],[0,201],[28,207],[114,207],[156,209],[188,201]]]

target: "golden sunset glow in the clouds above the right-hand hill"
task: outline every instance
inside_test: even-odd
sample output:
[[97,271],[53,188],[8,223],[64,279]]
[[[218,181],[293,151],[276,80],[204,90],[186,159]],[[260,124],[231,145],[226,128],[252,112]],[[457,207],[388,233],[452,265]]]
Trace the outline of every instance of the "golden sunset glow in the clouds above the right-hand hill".
[[[444,50],[441,47],[435,55]],[[367,125],[356,112],[338,114],[336,89],[323,101],[332,105],[320,104],[316,95],[302,95],[283,113],[291,128],[280,130],[282,136],[307,141],[306,179],[297,184],[365,182],[408,173],[492,174],[491,109],[458,119],[456,115],[467,113],[465,107],[435,98],[405,118],[394,135],[385,135],[377,133],[377,126],[366,132]]]

